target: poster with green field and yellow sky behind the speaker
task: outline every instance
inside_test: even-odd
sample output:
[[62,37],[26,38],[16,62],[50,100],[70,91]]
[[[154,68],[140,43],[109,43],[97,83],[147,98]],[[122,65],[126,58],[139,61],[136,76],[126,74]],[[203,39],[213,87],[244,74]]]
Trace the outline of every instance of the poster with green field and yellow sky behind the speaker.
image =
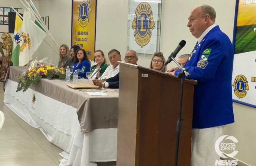
[[233,101],[256,107],[256,1],[237,0],[236,14]]

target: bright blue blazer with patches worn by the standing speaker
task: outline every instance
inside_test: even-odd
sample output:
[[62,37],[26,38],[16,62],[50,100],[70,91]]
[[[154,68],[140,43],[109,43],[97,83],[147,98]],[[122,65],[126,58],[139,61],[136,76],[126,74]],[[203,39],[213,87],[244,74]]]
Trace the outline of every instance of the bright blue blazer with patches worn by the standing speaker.
[[[234,122],[232,106],[233,45],[219,26],[195,46],[184,68],[194,87],[193,128],[210,128]],[[181,72],[181,69],[175,72]]]

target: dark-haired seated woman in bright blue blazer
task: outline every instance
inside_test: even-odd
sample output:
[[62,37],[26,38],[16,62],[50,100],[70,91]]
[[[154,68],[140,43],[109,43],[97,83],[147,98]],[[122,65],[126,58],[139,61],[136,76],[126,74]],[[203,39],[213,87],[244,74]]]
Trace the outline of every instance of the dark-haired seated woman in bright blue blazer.
[[73,63],[72,69],[79,70],[78,76],[86,78],[86,72],[90,71],[90,62],[88,61],[86,52],[84,49],[80,48],[75,53],[75,62]]

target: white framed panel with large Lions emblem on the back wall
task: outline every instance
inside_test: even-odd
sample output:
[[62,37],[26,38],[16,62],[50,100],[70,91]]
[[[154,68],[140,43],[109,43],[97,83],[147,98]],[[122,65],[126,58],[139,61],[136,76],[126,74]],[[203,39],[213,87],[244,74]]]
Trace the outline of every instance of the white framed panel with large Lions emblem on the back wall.
[[129,49],[153,54],[157,50],[158,3],[131,1],[131,21],[128,29]]

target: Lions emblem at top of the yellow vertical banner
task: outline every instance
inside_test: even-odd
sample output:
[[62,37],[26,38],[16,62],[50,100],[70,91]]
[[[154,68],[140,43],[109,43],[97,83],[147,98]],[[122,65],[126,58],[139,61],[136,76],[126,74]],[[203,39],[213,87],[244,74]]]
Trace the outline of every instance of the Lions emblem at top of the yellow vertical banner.
[[86,27],[89,23],[89,16],[91,15],[91,4],[89,0],[80,0],[76,14],[78,15],[78,22],[81,27]]

